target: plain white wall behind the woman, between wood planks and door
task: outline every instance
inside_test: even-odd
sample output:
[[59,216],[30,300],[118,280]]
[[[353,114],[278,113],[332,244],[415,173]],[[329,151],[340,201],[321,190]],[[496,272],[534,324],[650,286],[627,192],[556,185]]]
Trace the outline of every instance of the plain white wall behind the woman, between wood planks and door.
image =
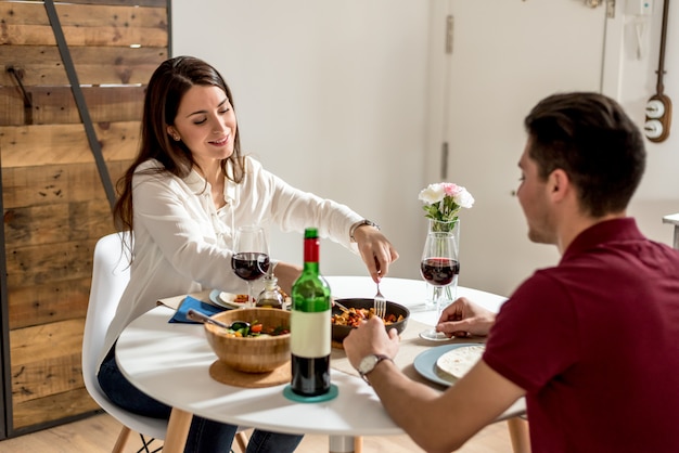
[[[383,225],[419,279],[428,8],[408,0],[200,0],[172,3],[172,54],[214,64],[235,99],[246,153],[291,184]],[[417,236],[417,247],[409,247]],[[300,234],[273,234],[302,261]],[[325,274],[366,274],[324,242]]]

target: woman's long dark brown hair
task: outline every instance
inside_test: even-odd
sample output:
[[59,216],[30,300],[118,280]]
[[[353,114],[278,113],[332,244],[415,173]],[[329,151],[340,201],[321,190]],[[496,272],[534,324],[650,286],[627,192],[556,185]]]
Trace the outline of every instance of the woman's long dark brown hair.
[[[150,172],[170,173],[185,178],[193,167],[197,167],[191,151],[181,141],[170,140],[167,127],[175,124],[179,103],[194,86],[219,87],[227,94],[233,107],[233,96],[221,75],[209,64],[192,56],[177,56],[166,60],[156,68],[149,80],[144,95],[144,111],[141,122],[141,146],[139,154],[125,174],[118,180],[120,194],[114,207],[114,222],[118,230],[132,231],[132,177],[137,167],[156,159],[162,169]],[[233,107],[235,111],[235,107]],[[243,180],[243,158],[241,156],[240,134],[236,129],[233,140],[233,154],[221,161],[221,168],[234,182]],[[231,161],[229,171],[228,163]]]

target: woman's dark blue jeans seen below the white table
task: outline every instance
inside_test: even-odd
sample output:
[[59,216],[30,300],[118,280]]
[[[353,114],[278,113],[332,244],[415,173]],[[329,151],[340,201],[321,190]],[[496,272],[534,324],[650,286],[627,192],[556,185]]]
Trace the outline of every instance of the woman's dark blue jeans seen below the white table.
[[[169,419],[171,407],[141,392],[123,376],[115,361],[115,345],[106,354],[99,374],[99,385],[111,401],[126,411],[154,418]],[[184,453],[229,452],[236,426],[194,416],[191,420]],[[255,429],[247,443],[247,453],[294,452],[303,436]]]

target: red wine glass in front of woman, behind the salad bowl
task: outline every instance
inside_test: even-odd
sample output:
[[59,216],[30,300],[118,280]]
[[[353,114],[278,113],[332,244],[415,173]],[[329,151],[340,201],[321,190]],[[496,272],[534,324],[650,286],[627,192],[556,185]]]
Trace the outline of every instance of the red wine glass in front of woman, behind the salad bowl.
[[257,225],[239,226],[231,257],[233,272],[247,283],[247,307],[254,307],[253,282],[269,270],[269,247],[264,229]]

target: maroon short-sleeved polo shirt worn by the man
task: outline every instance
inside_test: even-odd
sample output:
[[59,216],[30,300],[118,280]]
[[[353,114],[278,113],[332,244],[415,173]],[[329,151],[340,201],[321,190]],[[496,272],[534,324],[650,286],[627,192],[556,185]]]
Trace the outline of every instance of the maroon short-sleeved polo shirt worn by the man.
[[502,306],[484,361],[527,391],[534,453],[679,452],[679,251],[579,234]]

